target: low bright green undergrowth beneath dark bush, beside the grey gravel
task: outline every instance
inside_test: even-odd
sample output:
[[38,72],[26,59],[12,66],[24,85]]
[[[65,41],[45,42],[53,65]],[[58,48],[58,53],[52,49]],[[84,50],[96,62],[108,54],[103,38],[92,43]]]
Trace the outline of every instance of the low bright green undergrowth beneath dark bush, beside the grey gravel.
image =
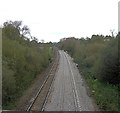
[[91,89],[92,96],[101,110],[120,111],[117,86],[101,83],[92,76],[88,76],[86,80]]

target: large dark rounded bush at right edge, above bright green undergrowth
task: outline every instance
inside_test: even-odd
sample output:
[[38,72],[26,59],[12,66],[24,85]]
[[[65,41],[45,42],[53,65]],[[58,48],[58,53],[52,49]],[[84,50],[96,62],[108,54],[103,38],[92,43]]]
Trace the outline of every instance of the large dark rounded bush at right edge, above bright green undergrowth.
[[102,51],[95,65],[95,76],[104,82],[118,84],[118,40],[111,41]]

